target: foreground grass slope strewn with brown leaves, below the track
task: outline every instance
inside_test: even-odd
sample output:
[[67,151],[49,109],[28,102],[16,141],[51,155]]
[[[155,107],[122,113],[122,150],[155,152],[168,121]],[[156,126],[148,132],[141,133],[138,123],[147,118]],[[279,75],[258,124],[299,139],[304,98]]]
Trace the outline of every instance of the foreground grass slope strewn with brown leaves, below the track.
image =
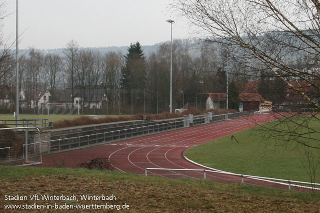
[[[27,200],[5,200],[5,195]],[[40,200],[30,200],[38,194]],[[42,200],[41,195],[78,200]],[[101,194],[115,200],[80,200]],[[0,167],[0,212],[318,212],[320,194],[298,193],[239,183],[166,179],[69,168]],[[4,209],[7,204],[112,204],[128,209]]]

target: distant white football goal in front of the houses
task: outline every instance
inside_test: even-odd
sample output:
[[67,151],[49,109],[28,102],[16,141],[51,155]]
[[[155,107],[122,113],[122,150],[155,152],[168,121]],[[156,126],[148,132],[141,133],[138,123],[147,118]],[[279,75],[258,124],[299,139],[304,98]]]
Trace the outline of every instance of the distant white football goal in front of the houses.
[[80,114],[80,104],[48,104],[48,115]]

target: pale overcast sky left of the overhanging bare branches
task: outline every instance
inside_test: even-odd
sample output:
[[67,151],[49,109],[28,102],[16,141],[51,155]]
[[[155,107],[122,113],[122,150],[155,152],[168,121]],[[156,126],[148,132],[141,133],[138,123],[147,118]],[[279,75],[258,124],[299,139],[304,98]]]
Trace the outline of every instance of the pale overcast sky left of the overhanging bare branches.
[[[4,35],[15,38],[15,3],[6,0],[9,15]],[[64,48],[74,39],[80,47],[153,45],[188,38],[185,22],[169,12],[170,0],[19,0],[20,49]]]

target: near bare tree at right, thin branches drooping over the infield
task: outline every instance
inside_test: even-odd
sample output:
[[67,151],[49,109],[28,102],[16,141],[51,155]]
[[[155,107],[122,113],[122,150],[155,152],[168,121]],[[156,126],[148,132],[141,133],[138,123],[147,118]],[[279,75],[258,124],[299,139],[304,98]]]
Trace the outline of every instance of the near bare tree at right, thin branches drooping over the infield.
[[[175,0],[173,8],[205,42],[221,44],[236,53],[234,60],[246,67],[248,78],[267,72],[273,83],[280,79],[288,88],[282,111],[320,111],[318,0]],[[317,150],[307,156],[319,159],[320,118],[314,114],[283,115],[276,125],[264,126],[261,133],[284,145]]]

